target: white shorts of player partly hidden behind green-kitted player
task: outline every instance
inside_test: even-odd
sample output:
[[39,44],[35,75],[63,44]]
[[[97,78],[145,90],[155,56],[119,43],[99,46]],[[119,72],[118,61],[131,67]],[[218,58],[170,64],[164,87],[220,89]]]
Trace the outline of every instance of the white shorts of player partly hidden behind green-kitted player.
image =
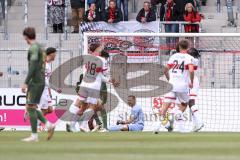
[[38,107],[39,109],[48,109],[49,106],[52,106],[52,99],[50,97],[48,87],[45,87]]

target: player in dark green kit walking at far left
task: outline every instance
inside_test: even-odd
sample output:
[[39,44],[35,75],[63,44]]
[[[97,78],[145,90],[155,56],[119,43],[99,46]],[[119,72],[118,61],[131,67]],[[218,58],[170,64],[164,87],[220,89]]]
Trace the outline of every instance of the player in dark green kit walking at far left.
[[22,85],[22,92],[27,93],[26,113],[31,123],[32,134],[30,137],[22,139],[25,142],[37,142],[37,121],[40,120],[48,129],[47,140],[53,136],[55,126],[48,122],[42,112],[37,110],[42,92],[45,86],[45,53],[41,45],[36,42],[36,32],[34,28],[27,27],[23,31],[23,36],[30,48],[28,50],[28,74]]

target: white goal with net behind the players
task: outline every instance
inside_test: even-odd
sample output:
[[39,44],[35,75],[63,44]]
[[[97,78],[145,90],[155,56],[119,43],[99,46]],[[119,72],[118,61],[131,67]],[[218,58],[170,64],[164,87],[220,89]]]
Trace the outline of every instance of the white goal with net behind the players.
[[[196,105],[205,124],[203,131],[240,131],[240,34],[84,33],[84,54],[90,54],[92,44],[101,44],[110,53],[111,75],[120,82],[118,88],[108,86],[109,125],[130,115],[128,95],[135,95],[143,108],[144,130],[153,130],[160,123],[156,110],[171,90],[163,66],[181,39],[188,39],[201,54]],[[171,109],[175,107],[172,104]],[[188,109],[184,117],[190,128]]]

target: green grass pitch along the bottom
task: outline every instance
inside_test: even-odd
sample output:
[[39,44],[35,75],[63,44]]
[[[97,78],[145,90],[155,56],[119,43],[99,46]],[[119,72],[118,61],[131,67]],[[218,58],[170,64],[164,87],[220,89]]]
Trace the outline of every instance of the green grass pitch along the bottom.
[[28,132],[0,132],[0,160],[239,160],[240,133],[66,133],[24,143]]

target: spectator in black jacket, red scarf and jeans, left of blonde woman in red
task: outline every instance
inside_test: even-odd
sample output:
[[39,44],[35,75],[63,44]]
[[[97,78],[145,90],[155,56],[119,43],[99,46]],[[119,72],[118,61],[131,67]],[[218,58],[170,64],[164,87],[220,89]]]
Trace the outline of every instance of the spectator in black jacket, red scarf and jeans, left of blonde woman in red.
[[[167,0],[164,7],[161,8],[161,20],[163,21],[179,21],[181,19],[181,11],[176,6],[176,3],[173,0]],[[177,33],[179,32],[178,24],[165,24],[166,33]],[[166,37],[167,51],[169,52],[175,48],[178,42],[176,37]]]

